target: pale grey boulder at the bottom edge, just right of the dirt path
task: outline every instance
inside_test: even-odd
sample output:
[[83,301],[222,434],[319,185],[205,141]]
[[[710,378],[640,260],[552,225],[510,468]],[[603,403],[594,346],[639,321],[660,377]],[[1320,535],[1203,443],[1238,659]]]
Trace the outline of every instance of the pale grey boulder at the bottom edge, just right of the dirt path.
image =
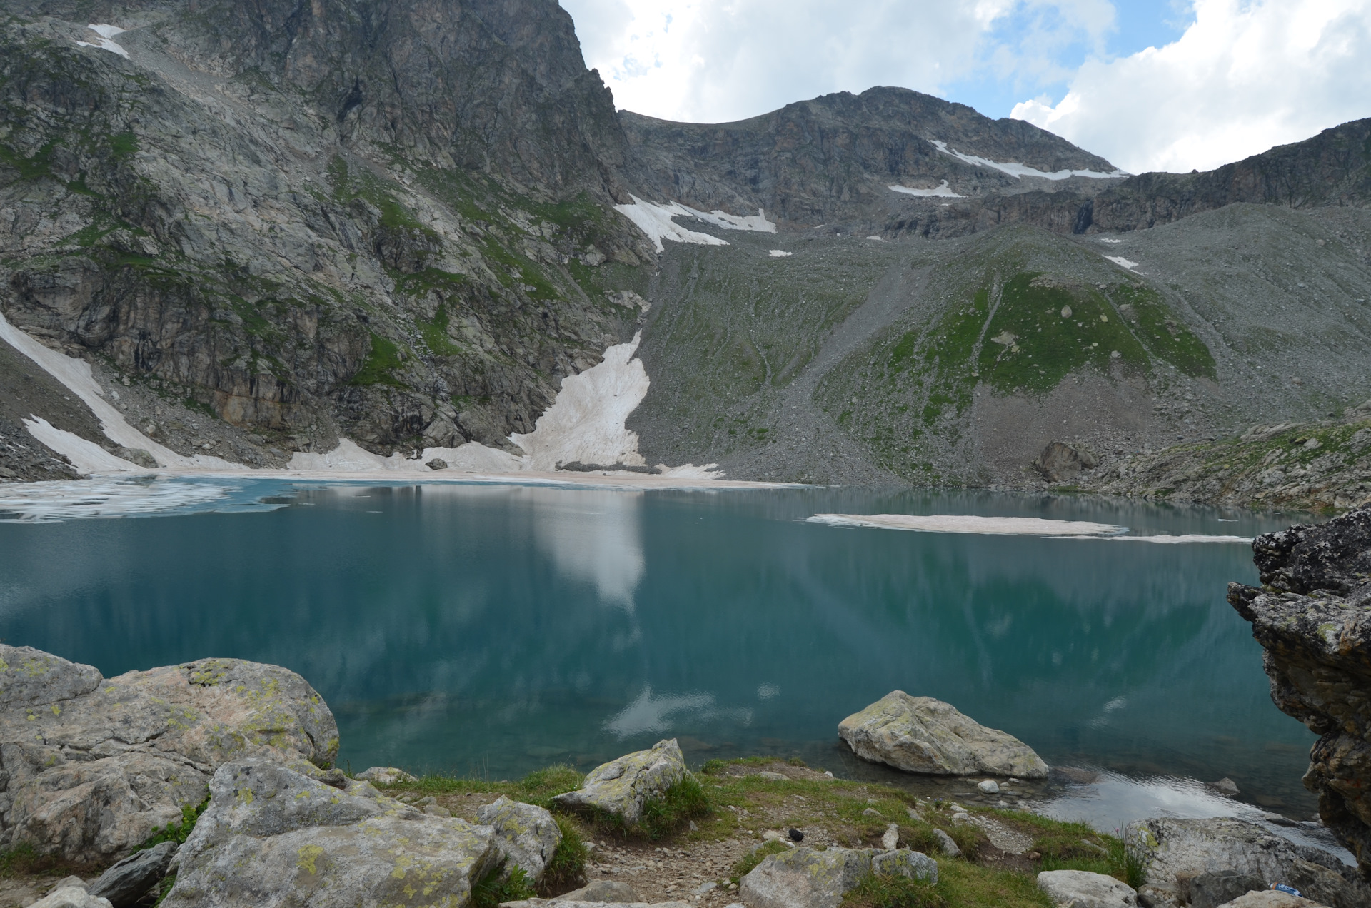
[[738,894],[749,908],[839,908],[871,872],[871,855],[853,848],[772,855],[743,876]]

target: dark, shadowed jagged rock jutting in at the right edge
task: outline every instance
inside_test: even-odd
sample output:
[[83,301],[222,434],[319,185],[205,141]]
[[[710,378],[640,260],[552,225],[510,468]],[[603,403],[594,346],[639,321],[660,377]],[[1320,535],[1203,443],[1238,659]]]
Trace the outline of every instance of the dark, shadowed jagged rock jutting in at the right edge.
[[1252,547],[1264,588],[1230,584],[1228,602],[1265,649],[1271,700],[1323,735],[1304,783],[1371,875],[1371,509]]

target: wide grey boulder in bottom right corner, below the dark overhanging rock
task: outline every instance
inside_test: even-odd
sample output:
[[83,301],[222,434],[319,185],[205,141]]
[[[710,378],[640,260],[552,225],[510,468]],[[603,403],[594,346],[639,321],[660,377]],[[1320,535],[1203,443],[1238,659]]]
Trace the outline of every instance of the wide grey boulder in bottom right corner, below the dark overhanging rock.
[[1149,889],[1172,897],[1183,881],[1228,871],[1261,881],[1263,886],[1286,883],[1331,908],[1371,905],[1371,886],[1335,856],[1297,845],[1243,820],[1152,819],[1128,826],[1128,841],[1148,852]]

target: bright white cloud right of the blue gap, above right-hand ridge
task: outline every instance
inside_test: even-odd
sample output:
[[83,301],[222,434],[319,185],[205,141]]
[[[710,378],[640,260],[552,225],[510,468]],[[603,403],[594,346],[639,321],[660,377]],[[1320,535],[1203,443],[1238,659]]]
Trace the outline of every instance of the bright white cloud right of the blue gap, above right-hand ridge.
[[1163,48],[1087,62],[1065,97],[1017,104],[1134,173],[1208,170],[1371,115],[1371,0],[1196,0]]

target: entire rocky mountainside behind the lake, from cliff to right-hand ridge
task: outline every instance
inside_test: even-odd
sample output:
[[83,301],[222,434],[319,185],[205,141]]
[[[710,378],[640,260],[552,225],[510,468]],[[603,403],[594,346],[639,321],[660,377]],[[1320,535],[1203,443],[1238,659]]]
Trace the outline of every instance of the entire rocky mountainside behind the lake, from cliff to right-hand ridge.
[[[1371,121],[1127,178],[895,88],[668,123],[551,0],[22,0],[0,45],[0,314],[181,455],[513,450],[639,329],[646,461],[739,479],[1039,486],[1060,442],[1098,486],[1371,396]],[[0,479],[63,473],[29,417],[141,462],[38,372],[0,346]]]

